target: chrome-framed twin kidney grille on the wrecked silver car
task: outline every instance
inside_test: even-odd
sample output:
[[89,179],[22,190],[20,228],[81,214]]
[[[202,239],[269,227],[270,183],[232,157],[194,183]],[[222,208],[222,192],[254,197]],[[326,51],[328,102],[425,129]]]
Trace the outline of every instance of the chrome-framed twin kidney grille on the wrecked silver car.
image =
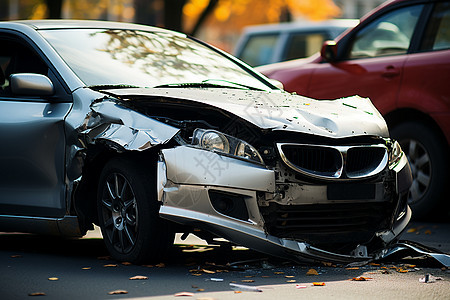
[[383,144],[328,146],[277,144],[281,159],[295,171],[320,179],[360,179],[378,174],[388,164]]

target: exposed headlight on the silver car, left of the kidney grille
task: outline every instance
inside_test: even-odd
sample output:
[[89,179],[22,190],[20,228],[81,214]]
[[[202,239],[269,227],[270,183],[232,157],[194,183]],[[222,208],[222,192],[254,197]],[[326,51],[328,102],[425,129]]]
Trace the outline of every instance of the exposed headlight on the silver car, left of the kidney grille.
[[206,150],[264,164],[258,151],[247,142],[211,129],[196,129],[192,145]]

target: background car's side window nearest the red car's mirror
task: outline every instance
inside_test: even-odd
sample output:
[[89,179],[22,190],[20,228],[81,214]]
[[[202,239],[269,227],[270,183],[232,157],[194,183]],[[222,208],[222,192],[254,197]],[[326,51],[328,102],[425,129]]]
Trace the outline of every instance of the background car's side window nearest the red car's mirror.
[[293,33],[287,45],[285,60],[303,58],[320,51],[324,40],[327,39],[325,33]]

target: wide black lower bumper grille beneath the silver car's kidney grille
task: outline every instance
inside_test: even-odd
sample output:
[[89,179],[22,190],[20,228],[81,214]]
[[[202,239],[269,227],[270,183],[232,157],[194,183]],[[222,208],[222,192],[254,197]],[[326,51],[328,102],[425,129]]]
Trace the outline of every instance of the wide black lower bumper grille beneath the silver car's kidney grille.
[[388,202],[260,207],[269,234],[313,245],[363,244],[389,227]]

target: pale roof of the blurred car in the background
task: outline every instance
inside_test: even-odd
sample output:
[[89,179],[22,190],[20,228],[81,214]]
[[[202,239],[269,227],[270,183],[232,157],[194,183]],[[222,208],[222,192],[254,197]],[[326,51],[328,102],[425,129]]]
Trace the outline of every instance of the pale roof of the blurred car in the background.
[[354,27],[359,23],[357,19],[334,19],[322,22],[298,21],[292,23],[264,24],[248,26],[245,33],[266,33],[266,32],[284,32],[284,31],[310,31],[327,30],[330,27]]

